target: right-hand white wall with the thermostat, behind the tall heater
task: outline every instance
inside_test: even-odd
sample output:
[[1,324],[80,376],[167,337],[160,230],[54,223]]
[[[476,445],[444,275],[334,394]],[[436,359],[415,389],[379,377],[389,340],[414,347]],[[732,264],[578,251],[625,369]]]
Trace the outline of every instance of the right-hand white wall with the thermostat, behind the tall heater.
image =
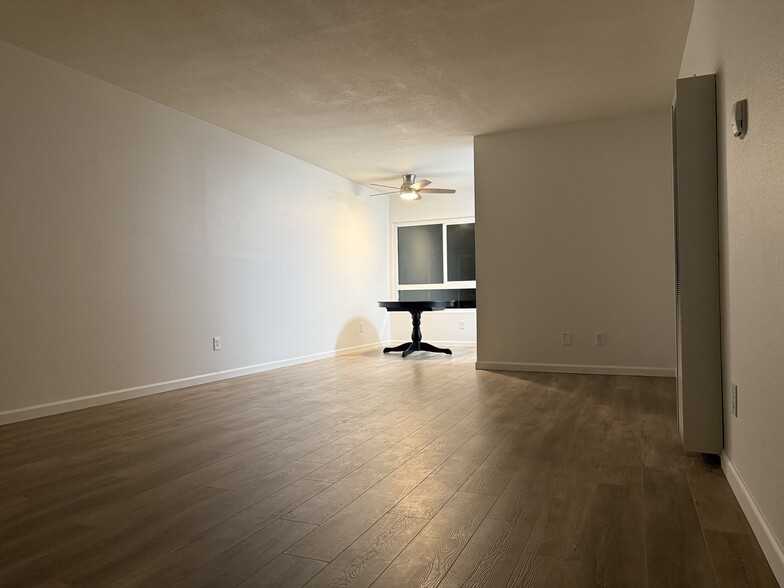
[[[784,3],[697,0],[680,75],[707,73],[719,118],[724,466],[784,585]],[[740,140],[730,117],[743,98]]]

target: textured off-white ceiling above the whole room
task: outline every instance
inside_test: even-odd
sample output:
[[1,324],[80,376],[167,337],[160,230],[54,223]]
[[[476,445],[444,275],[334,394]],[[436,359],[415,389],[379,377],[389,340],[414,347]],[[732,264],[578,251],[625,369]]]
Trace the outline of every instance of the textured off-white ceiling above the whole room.
[[[0,0],[0,39],[360,183],[670,104],[689,0]],[[7,83],[7,81],[4,81]]]

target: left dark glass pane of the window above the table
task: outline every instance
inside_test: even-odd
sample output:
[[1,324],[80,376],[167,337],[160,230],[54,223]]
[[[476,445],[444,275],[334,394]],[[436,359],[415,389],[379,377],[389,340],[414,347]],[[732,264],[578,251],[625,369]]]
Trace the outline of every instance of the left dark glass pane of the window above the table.
[[398,227],[398,284],[443,284],[441,225]]

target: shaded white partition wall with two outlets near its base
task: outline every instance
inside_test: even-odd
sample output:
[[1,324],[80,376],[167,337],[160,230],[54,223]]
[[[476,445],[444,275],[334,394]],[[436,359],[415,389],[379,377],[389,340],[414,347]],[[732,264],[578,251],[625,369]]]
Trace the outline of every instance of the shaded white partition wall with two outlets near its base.
[[478,367],[674,375],[670,127],[476,137]]

